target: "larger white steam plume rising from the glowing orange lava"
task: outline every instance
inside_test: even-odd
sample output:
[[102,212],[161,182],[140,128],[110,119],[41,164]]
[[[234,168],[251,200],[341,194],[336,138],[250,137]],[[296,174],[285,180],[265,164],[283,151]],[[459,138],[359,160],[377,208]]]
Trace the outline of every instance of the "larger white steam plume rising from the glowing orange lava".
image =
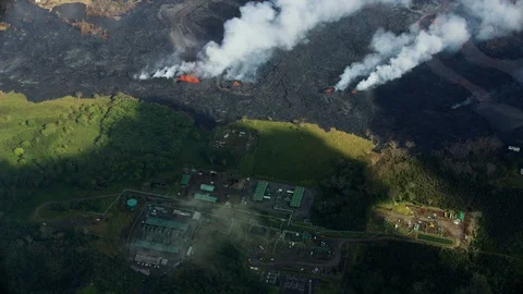
[[306,34],[321,23],[339,21],[366,4],[408,4],[410,0],[270,0],[248,2],[241,16],[224,24],[221,45],[208,42],[196,62],[182,62],[143,72],[139,78],[172,77],[193,72],[212,77],[227,72],[228,77],[252,78],[275,49],[291,50]]

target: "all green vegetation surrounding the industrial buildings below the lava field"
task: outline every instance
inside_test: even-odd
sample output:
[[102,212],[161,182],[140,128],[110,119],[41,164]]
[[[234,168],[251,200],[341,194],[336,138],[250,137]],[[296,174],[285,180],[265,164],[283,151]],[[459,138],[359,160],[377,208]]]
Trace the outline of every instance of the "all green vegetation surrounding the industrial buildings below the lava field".
[[[424,154],[391,143],[378,155],[369,140],[302,122],[242,120],[226,128],[257,134],[256,144],[245,148],[244,140],[233,137],[231,146],[212,146],[209,133],[185,115],[123,94],[32,103],[22,95],[0,93],[2,286],[10,293],[266,293],[246,258],[229,241],[215,240],[203,257],[141,285],[143,277],[129,270],[122,246],[139,210],[117,204],[96,222],[89,212],[102,212],[114,196],[80,199],[158,175],[178,179],[182,167],[192,164],[316,187],[315,225],[294,219],[288,225],[270,216],[259,221],[327,237],[382,238],[365,232],[373,206],[401,215],[411,213],[403,201],[483,212],[467,253],[390,241],[387,246],[357,245],[343,277],[346,293],[521,289],[514,257],[523,253],[523,194],[514,171],[523,161],[501,155],[499,140],[476,138]],[[217,130],[215,138],[223,138],[223,132]],[[172,185],[169,193],[178,189]],[[57,203],[36,213],[47,201]],[[388,205],[392,203],[400,204]],[[81,224],[80,230],[56,229],[13,217]],[[435,235],[417,238],[452,245]],[[324,284],[319,291],[338,289]]]

